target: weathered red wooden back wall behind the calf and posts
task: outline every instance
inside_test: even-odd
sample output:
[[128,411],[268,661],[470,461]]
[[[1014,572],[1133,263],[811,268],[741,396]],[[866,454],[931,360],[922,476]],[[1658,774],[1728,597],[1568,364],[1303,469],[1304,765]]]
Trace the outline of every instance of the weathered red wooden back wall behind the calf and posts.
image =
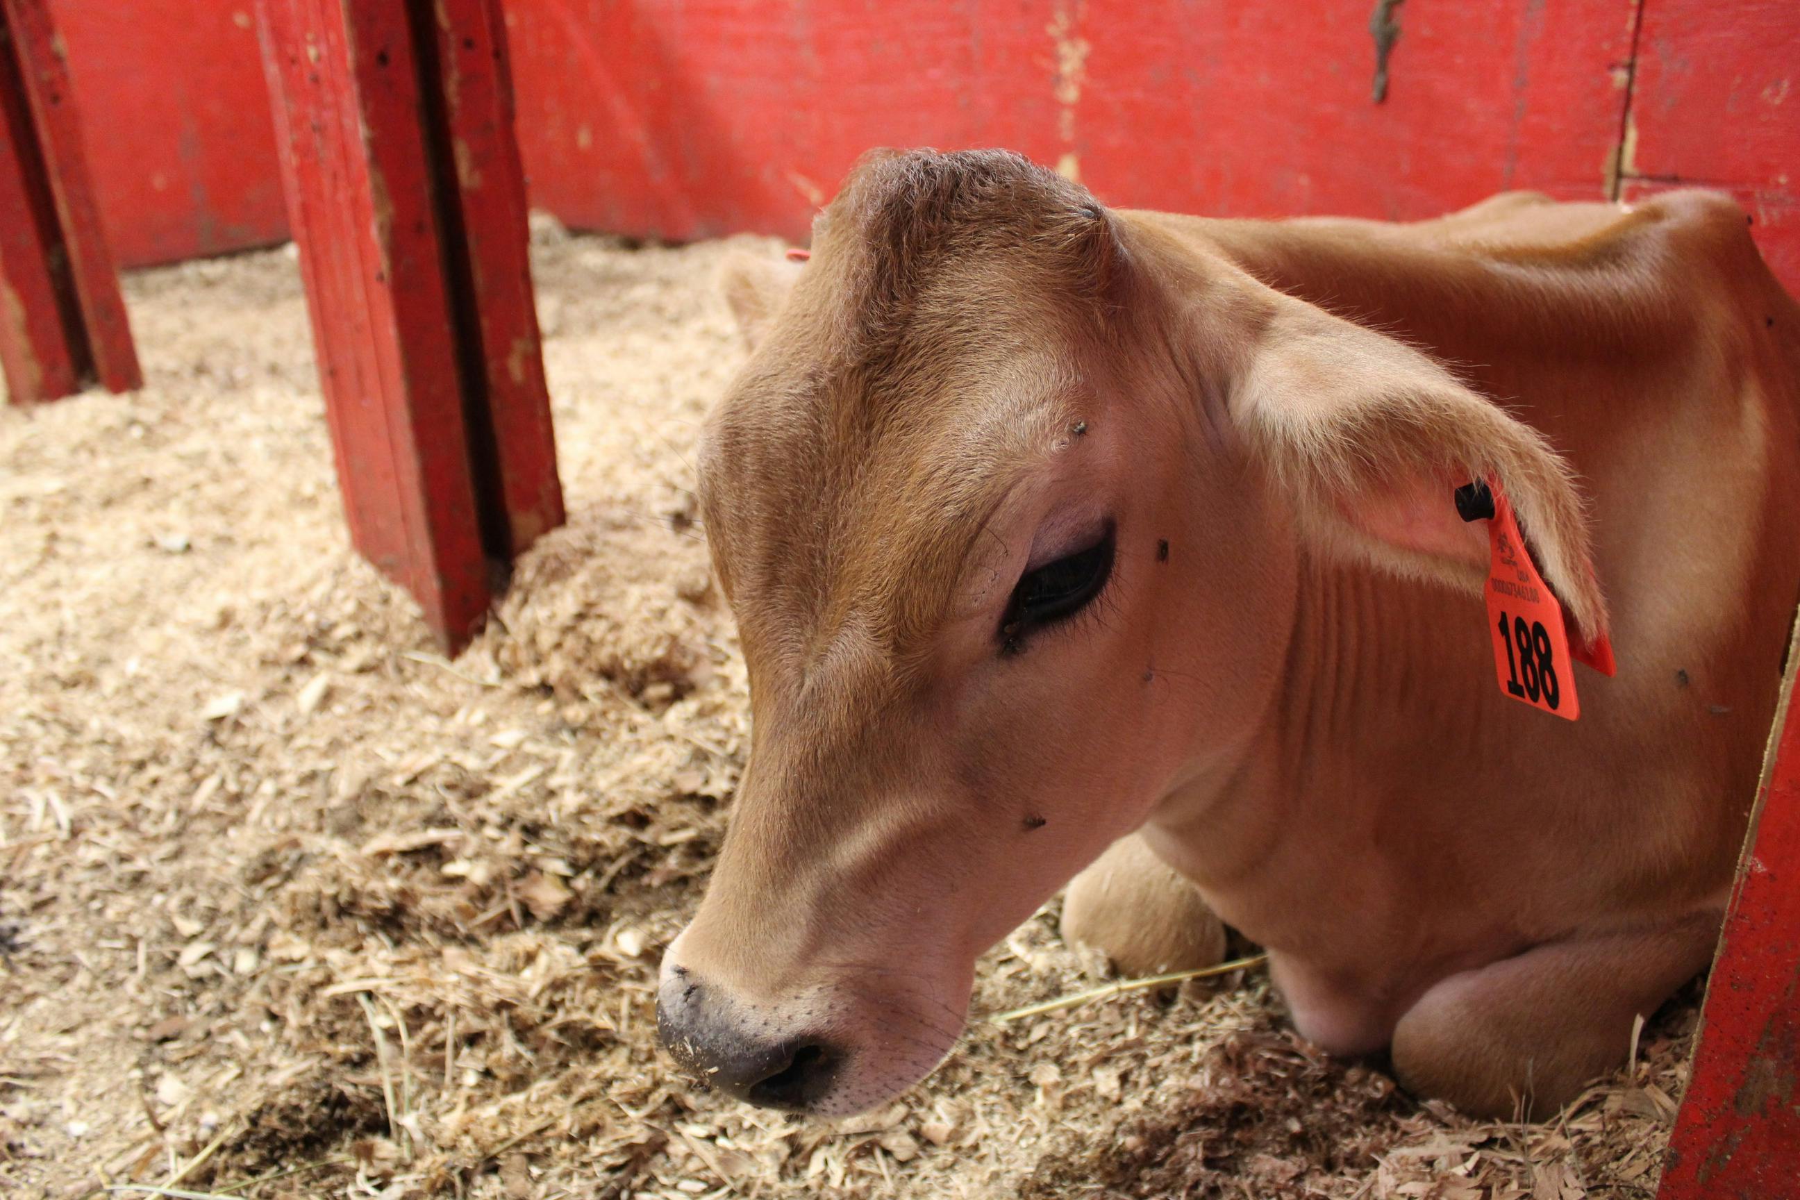
[[[284,234],[250,0],[52,0],[119,257]],[[1733,189],[1800,288],[1800,4],[508,0],[533,200],[799,237],[869,146],[1012,146],[1107,201],[1429,216],[1505,187]],[[1620,180],[1620,167],[1624,178]]]

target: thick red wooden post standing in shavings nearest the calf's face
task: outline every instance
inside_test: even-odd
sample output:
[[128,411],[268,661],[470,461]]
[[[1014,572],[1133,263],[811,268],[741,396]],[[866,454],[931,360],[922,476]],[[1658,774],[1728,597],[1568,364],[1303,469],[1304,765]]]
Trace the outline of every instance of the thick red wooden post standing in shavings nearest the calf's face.
[[351,540],[446,649],[562,522],[497,0],[259,0]]

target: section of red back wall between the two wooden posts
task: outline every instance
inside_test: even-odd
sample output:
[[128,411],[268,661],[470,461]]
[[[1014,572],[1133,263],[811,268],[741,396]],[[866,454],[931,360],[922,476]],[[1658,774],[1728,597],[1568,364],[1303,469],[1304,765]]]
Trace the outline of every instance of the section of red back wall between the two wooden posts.
[[254,0],[50,0],[122,266],[286,241]]

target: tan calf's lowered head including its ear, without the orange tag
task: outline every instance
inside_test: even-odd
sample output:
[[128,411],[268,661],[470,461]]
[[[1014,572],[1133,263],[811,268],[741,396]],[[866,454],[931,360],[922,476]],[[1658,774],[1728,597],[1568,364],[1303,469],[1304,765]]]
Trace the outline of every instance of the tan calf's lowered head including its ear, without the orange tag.
[[1017,157],[869,158],[805,268],[731,290],[756,347],[700,493],[754,732],[659,1020],[754,1103],[842,1114],[920,1079],[985,948],[1233,770],[1301,554],[1478,588],[1451,489],[1498,475],[1604,624],[1523,425]]

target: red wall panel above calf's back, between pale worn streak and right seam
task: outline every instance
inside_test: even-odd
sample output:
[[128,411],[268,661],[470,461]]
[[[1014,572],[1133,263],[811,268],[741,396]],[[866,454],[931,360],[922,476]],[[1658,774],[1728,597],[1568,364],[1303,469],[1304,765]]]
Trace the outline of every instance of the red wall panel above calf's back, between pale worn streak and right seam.
[[[1233,216],[1408,219],[1510,187],[1597,194],[1631,0],[1397,5],[1381,104],[1372,7],[1213,4],[1166,22],[1089,5],[1073,36],[1093,47],[1093,83],[1066,140],[1094,180],[1120,180],[1120,201]],[[1141,47],[1156,67],[1132,72]]]

